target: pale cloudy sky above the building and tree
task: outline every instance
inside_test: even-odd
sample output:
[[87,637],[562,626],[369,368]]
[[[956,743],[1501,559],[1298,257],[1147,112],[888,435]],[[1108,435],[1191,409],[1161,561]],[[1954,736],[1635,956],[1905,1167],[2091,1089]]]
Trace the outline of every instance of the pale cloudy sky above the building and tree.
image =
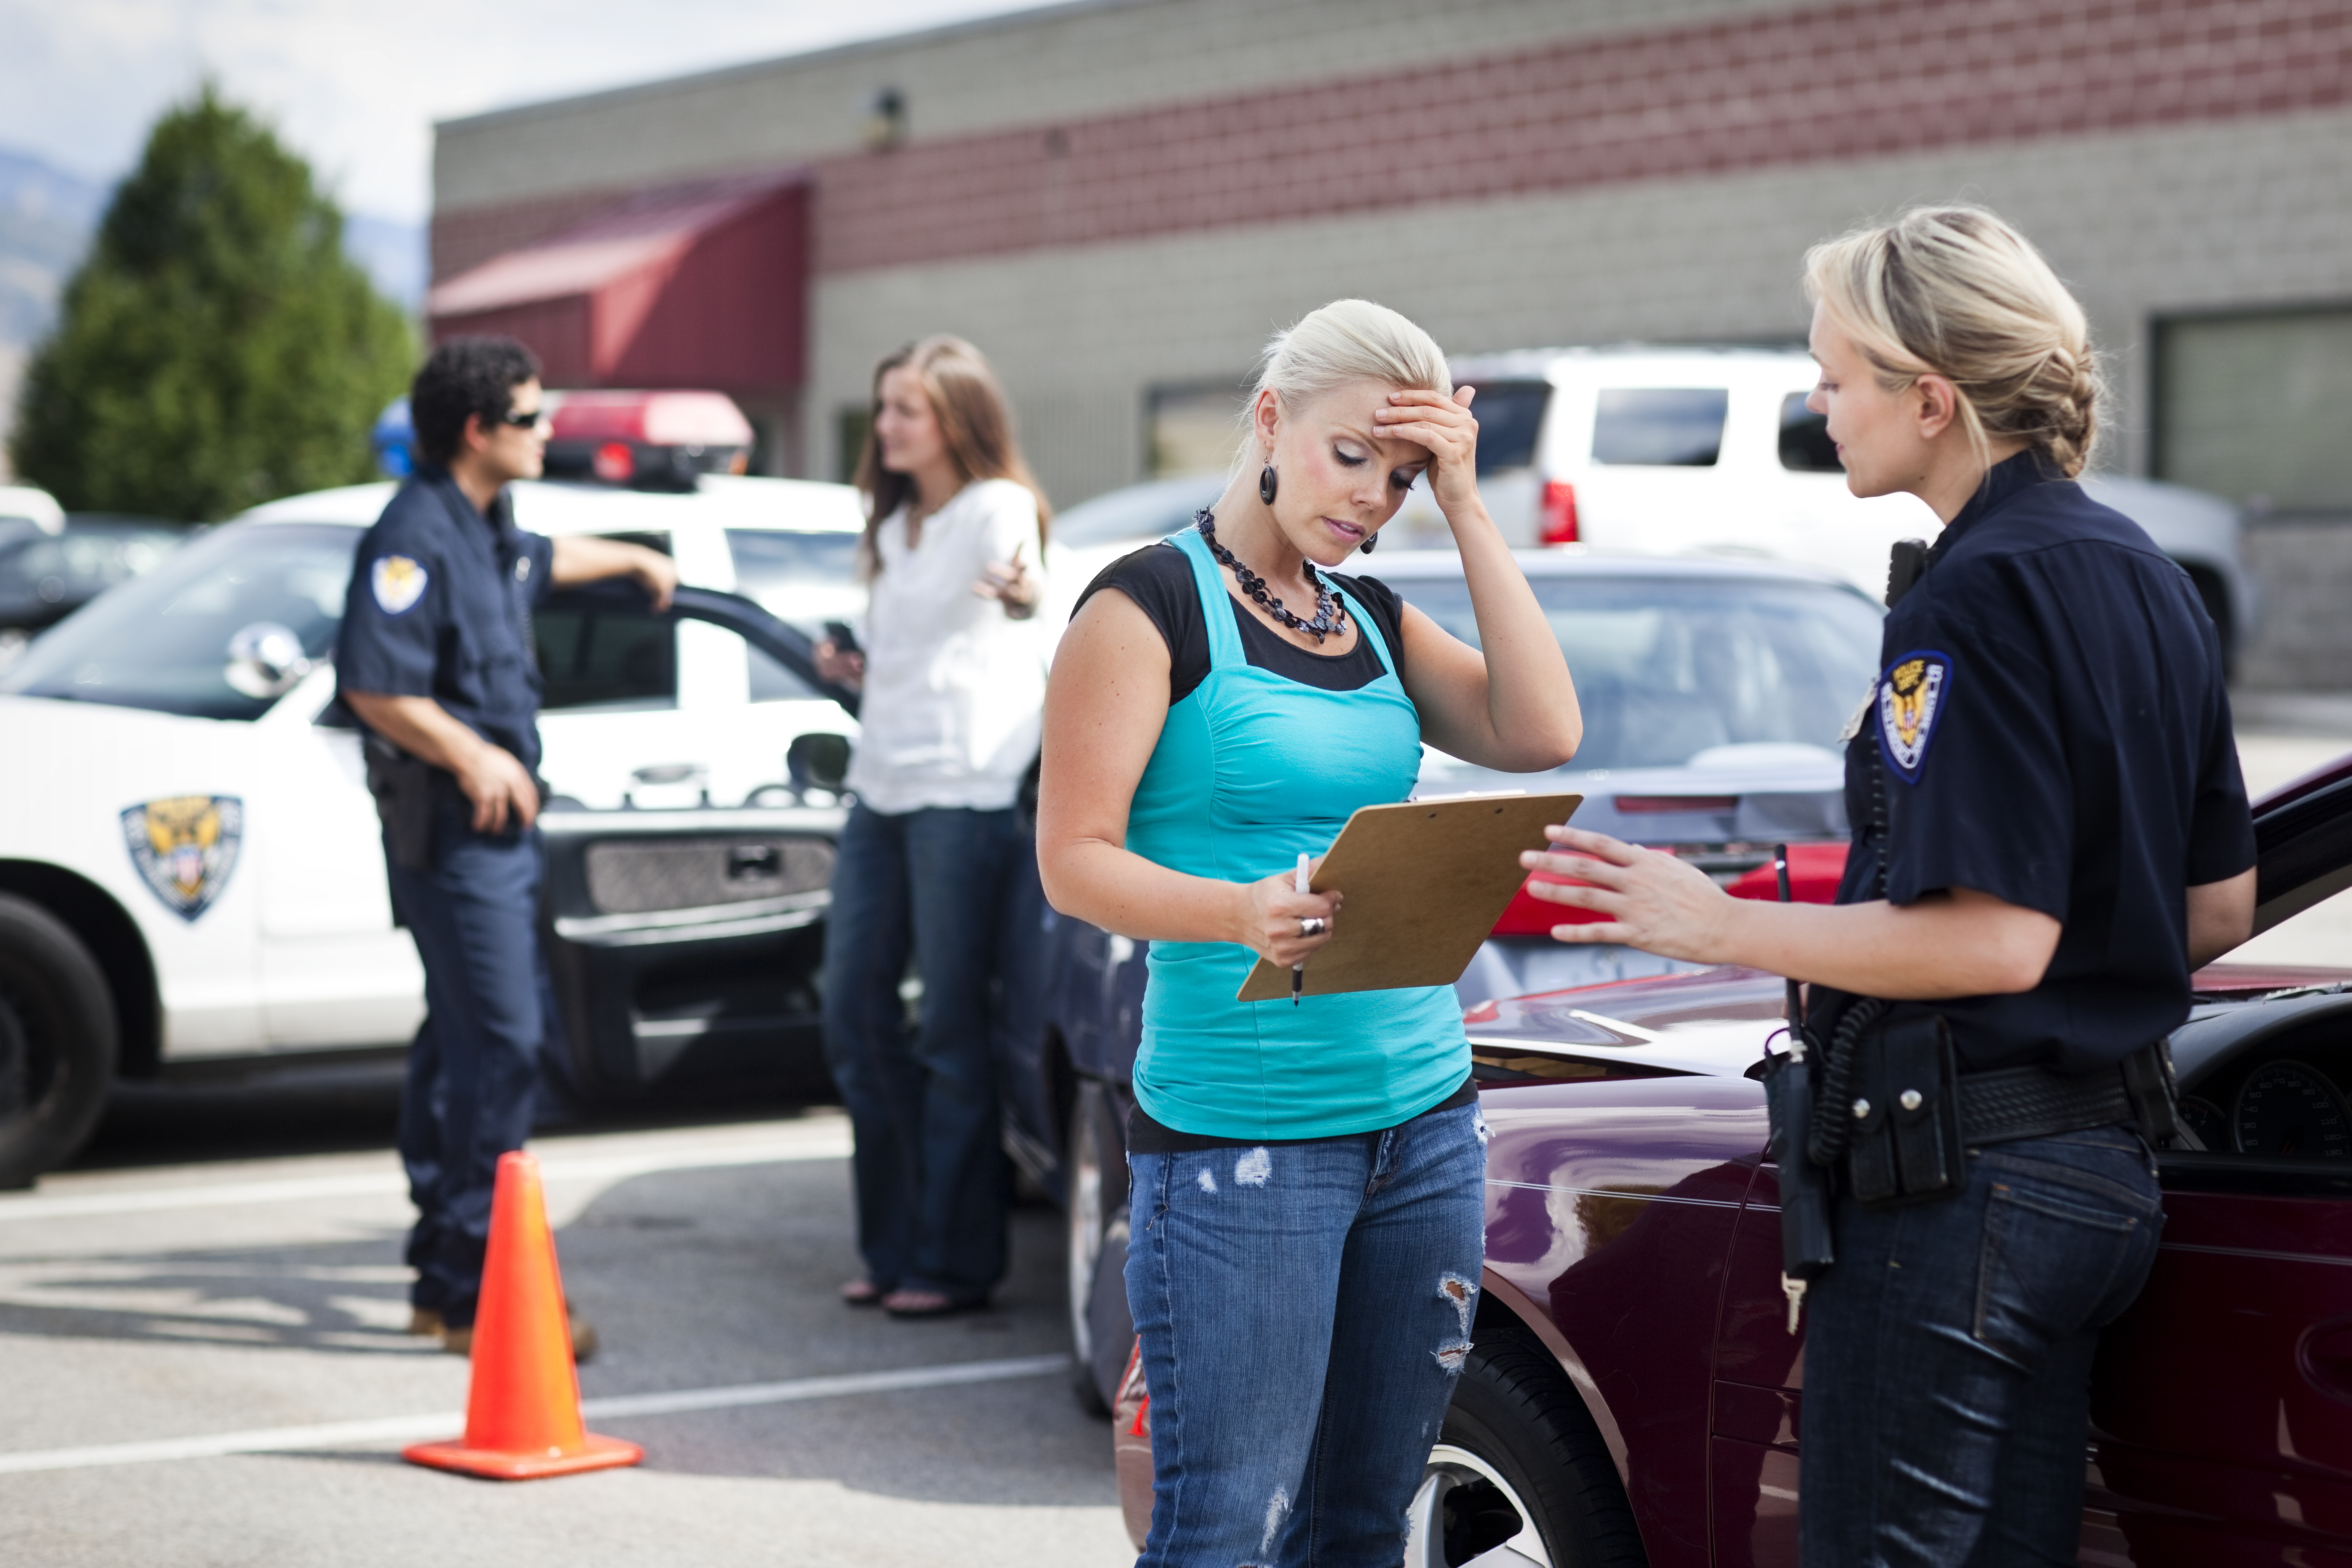
[[433,120],[1035,0],[0,0],[0,146],[113,179],[212,73],[353,212],[421,221]]

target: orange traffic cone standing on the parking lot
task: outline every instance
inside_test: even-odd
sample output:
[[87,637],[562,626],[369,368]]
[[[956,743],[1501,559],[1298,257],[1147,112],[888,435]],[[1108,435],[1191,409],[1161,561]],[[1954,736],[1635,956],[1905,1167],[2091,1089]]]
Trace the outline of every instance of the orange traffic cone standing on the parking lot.
[[572,1366],[564,1281],[555,1269],[555,1237],[548,1232],[548,1206],[539,1192],[539,1161],[529,1154],[499,1157],[499,1187],[489,1199],[489,1255],[482,1260],[482,1305],[473,1321],[466,1439],[416,1443],[400,1458],[492,1481],[569,1476],[644,1458],[644,1448],[593,1436],[581,1425],[581,1380]]

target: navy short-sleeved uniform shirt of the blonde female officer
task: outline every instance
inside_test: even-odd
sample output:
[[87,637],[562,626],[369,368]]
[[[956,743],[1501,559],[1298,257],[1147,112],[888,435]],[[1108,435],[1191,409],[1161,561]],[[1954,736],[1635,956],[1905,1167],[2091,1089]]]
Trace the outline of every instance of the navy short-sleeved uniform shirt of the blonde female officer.
[[[1872,766],[1886,792],[1872,827]],[[2185,889],[2253,865],[2220,639],[2136,522],[2037,454],[1997,465],[1886,614],[1846,748],[1839,903],[1976,889],[2060,922],[2030,992],[1907,1001],[1964,1072],[2089,1072],[2190,1009]]]

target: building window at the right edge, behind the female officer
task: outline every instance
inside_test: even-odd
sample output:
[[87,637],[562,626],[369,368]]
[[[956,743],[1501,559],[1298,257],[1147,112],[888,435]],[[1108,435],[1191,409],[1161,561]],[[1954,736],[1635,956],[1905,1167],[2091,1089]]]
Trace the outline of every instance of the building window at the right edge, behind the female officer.
[[2258,515],[2352,515],[2352,308],[2157,322],[2161,480]]

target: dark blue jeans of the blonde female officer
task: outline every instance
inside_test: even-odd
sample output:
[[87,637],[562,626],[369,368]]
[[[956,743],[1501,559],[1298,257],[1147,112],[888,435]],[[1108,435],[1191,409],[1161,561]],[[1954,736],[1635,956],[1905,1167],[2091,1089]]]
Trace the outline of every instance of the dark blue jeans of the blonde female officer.
[[2161,1227],[2124,1128],[1985,1145],[1957,1199],[1842,1199],[1806,1305],[1806,1568],[2072,1563],[2091,1356]]

